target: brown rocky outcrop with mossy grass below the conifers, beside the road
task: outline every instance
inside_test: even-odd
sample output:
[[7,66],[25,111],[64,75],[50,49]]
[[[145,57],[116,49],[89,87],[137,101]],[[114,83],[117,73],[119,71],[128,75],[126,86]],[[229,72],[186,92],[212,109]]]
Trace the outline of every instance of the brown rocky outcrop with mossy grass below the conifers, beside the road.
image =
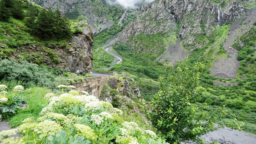
[[53,68],[59,67],[73,73],[90,72],[92,70],[92,28],[86,21],[79,22],[77,26],[83,32],[75,34],[71,41],[22,45],[13,52],[12,57]]

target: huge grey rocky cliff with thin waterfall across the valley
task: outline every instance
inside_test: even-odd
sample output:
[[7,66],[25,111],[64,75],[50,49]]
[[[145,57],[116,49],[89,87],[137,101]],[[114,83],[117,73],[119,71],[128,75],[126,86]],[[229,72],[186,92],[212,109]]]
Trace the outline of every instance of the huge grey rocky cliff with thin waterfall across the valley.
[[[201,47],[198,36],[209,36],[215,26],[226,25],[243,15],[248,9],[241,1],[221,1],[219,4],[204,0],[159,0],[142,10],[138,18],[126,26],[115,43],[127,43],[139,34],[170,35],[184,40],[184,46],[193,50]],[[133,48],[134,45],[130,46]]]

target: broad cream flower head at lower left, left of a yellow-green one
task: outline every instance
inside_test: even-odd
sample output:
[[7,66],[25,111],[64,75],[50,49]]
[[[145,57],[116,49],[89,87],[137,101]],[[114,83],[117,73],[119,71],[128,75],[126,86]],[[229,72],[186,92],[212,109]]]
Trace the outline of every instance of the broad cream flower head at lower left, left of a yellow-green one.
[[56,135],[62,127],[54,121],[45,120],[36,125],[34,130],[38,130],[39,138],[42,139],[48,135]]

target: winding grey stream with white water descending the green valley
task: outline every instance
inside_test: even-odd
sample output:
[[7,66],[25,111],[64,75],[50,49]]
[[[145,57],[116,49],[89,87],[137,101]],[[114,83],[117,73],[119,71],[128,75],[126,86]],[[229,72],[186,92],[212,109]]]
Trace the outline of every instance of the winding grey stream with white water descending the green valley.
[[110,67],[105,68],[104,70],[108,70],[112,67],[114,67],[114,65],[121,63],[123,61],[122,56],[117,54],[116,52],[112,51],[112,45],[115,42],[116,38],[117,38],[117,34],[115,36],[113,36],[112,38],[108,39],[102,46],[104,47],[104,50],[107,51],[109,54],[114,56],[114,63],[111,64]]

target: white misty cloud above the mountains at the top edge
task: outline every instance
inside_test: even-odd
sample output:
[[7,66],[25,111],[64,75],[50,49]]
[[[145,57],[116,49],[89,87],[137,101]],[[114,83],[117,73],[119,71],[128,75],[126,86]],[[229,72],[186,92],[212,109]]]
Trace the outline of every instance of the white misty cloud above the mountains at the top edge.
[[[142,2],[143,0],[107,0],[109,4],[120,4],[124,8],[136,8],[136,4]],[[147,3],[151,3],[154,0],[145,0]]]

